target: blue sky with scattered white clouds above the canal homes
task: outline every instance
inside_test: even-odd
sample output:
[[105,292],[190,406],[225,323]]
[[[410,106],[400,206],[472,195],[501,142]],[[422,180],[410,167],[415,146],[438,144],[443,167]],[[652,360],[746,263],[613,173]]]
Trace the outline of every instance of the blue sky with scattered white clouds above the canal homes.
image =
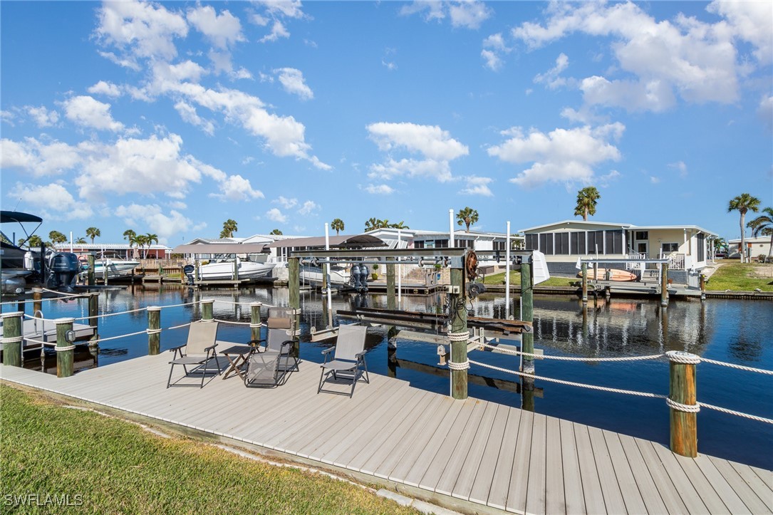
[[[2,208],[117,242],[773,206],[771,2],[2,2]],[[98,240],[97,240],[98,241]]]

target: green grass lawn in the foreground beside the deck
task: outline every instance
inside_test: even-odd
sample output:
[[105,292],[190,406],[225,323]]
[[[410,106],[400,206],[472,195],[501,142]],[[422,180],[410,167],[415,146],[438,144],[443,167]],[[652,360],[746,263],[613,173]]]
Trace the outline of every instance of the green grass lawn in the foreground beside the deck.
[[[358,486],[271,466],[0,384],[0,505],[19,513],[417,513]],[[11,508],[13,510],[13,508]]]

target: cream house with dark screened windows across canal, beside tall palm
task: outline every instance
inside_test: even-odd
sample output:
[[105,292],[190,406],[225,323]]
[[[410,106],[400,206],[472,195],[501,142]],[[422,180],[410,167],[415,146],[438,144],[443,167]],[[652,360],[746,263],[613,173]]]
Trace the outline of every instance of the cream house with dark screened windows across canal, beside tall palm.
[[686,282],[688,271],[700,271],[709,264],[710,240],[718,237],[696,225],[636,226],[594,220],[562,220],[520,232],[526,249],[545,254],[551,275],[574,277],[581,257],[666,258],[669,277],[677,282]]

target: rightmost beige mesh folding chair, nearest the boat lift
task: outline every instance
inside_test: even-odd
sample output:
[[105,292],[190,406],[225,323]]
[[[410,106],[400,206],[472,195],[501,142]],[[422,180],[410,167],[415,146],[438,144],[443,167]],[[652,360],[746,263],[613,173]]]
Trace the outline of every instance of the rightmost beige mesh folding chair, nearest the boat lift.
[[[345,380],[352,381],[352,391],[349,397],[354,395],[354,387],[359,377],[363,377],[366,383],[369,383],[368,367],[365,363],[365,337],[367,328],[365,326],[344,325],[339,326],[339,336],[335,346],[323,350],[325,363],[322,363],[322,377],[319,378],[319,387],[317,393],[322,391],[322,385],[332,375],[334,380],[342,377]],[[334,352],[333,359],[328,360],[331,352]],[[325,390],[329,393],[340,393]]]

